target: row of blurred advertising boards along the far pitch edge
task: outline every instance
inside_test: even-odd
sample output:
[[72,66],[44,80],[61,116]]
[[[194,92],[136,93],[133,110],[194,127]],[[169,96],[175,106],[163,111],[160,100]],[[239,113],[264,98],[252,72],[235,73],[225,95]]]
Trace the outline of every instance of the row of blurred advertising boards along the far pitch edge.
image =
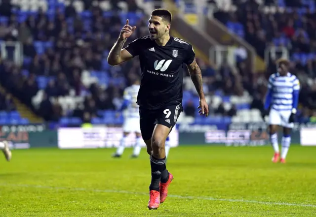
[[[279,135],[281,135],[281,131]],[[316,124],[295,124],[292,144],[316,146],[314,135]],[[118,147],[123,130],[119,126],[60,127],[49,129],[44,124],[2,125],[0,140],[7,140],[11,149],[58,147],[60,149],[113,148]],[[264,146],[269,145],[267,124],[181,124],[170,133],[171,147],[178,145],[226,145]],[[279,136],[279,139],[281,136]],[[130,134],[127,147],[136,140]],[[279,141],[280,142],[280,141]],[[142,144],[145,147],[145,143]]]

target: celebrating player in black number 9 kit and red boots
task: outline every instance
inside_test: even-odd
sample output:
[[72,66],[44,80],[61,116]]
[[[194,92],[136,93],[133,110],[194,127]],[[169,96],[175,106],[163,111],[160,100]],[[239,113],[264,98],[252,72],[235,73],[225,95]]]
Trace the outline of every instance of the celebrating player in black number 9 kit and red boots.
[[108,56],[110,65],[118,65],[139,56],[142,75],[137,104],[140,106],[141,134],[150,155],[152,171],[149,209],[157,209],[166,199],[168,186],[173,179],[166,169],[164,146],[183,110],[183,63],[187,65],[199,95],[199,113],[208,115],[201,70],[192,45],[170,36],[170,25],[171,13],[165,9],[156,9],[149,19],[150,36],[138,38],[122,49],[126,39],[136,29],[127,20]]

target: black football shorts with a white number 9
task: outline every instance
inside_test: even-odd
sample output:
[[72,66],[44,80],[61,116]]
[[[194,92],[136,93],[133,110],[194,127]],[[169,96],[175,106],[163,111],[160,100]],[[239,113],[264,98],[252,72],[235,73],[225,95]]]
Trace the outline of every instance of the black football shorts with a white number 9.
[[[144,140],[152,138],[156,124],[172,127],[177,123],[180,113],[183,111],[182,105],[165,105],[160,109],[148,110],[139,109],[140,131]],[[171,130],[170,130],[171,132]]]

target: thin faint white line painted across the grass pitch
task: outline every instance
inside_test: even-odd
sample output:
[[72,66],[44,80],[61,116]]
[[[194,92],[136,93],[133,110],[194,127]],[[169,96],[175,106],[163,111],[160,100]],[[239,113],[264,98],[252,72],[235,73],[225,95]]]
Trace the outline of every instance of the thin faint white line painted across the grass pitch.
[[[122,194],[134,194],[134,195],[135,194],[148,195],[148,193],[145,193],[145,192],[133,192],[133,191],[126,191],[126,190],[111,190],[111,189],[91,189],[91,188],[79,188],[79,187],[54,187],[54,186],[35,186],[35,185],[33,186],[33,185],[19,185],[19,184],[6,184],[6,183],[0,183],[0,186],[34,187],[34,188],[56,189],[56,190],[73,190],[73,191],[91,191],[91,192],[104,192],[104,193],[122,193]],[[268,202],[268,201],[244,200],[244,199],[214,198],[214,197],[181,196],[181,195],[173,195],[173,194],[168,195],[168,197],[175,197],[175,198],[179,198],[179,199],[195,199],[195,200],[241,202],[241,203],[265,204],[265,205],[316,207],[315,204]]]

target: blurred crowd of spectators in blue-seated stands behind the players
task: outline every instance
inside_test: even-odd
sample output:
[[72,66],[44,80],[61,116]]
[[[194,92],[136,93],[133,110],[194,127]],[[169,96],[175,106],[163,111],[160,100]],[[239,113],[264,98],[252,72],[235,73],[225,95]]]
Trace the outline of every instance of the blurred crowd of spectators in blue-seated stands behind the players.
[[[16,114],[17,103],[21,102],[45,121],[120,124],[123,117],[116,117],[115,113],[122,103],[124,88],[140,78],[140,66],[137,58],[116,67],[110,67],[106,59],[126,18],[137,26],[129,41],[148,34],[148,16],[138,6],[139,0],[40,0],[36,1],[38,5],[30,2],[2,0],[0,3],[3,87],[0,123],[10,123],[12,112],[17,118],[15,122],[31,121]],[[234,11],[222,10],[215,0],[206,3],[217,7],[214,19],[252,45],[263,59],[268,47],[287,49],[291,72],[301,84],[297,121],[313,120],[316,117],[315,1],[228,0],[226,3],[236,6]],[[15,42],[22,45],[20,56],[16,54]],[[265,71],[249,71],[243,55],[241,48],[236,51],[236,65],[223,62],[220,66],[197,57],[211,113],[203,124],[234,122],[239,113],[245,114],[243,118],[249,116],[247,111],[257,114],[255,121],[262,121],[259,113],[263,109],[267,78],[276,72],[276,65],[269,61]],[[201,124],[197,117],[197,95],[189,74],[185,70],[183,73],[185,116]],[[246,100],[227,103],[234,96]],[[245,121],[243,118],[235,121]]]

